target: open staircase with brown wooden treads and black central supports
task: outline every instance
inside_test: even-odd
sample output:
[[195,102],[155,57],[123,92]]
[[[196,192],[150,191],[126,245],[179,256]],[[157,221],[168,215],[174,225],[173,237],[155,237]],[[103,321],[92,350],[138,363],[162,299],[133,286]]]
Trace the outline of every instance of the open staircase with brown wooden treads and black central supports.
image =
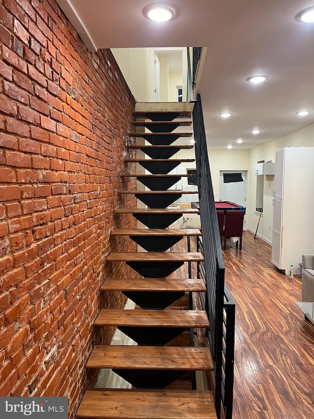
[[[152,174],[123,174],[136,177],[150,190],[125,190],[148,208],[119,208],[117,214],[132,214],[148,228],[115,229],[111,235],[125,236],[143,251],[111,252],[110,263],[127,263],[141,278],[106,278],[101,291],[121,291],[135,309],[102,309],[95,327],[117,327],[137,346],[95,346],[86,368],[109,368],[131,383],[132,389],[85,391],[77,418],[90,419],[213,419],[217,418],[211,391],[198,390],[195,371],[213,371],[209,347],[194,346],[194,330],[209,328],[206,311],[195,310],[191,293],[205,292],[203,279],[173,278],[184,262],[202,262],[200,252],[176,252],[172,248],[185,236],[200,236],[199,229],[171,228],[182,214],[195,209],[167,207],[183,194],[171,190],[182,176],[168,174],[183,162],[173,159],[181,149],[173,145],[189,133],[174,132],[191,124],[189,112],[136,112],[134,127],[150,132],[131,133],[150,145],[130,145],[150,159],[127,159]],[[169,228],[168,228],[169,227]],[[171,275],[171,278],[169,276]],[[185,379],[184,379],[185,377]]]

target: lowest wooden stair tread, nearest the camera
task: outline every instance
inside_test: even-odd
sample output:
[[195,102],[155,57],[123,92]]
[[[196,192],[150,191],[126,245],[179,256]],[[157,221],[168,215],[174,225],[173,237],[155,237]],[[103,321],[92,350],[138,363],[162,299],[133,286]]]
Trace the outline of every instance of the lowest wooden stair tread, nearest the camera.
[[77,418],[215,419],[211,391],[100,389],[85,391]]

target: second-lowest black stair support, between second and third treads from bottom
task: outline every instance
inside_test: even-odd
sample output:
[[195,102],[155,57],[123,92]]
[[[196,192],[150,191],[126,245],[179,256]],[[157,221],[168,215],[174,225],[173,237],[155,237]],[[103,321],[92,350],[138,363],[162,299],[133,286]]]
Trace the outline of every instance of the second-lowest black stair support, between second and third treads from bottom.
[[118,329],[139,345],[163,346],[181,335],[187,328],[118,326]]

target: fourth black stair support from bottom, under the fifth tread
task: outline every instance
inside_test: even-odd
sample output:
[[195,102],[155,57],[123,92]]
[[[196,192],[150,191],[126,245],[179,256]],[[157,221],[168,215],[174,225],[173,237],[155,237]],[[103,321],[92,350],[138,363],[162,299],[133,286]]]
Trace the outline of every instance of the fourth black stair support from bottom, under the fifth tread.
[[177,269],[179,269],[184,262],[126,262],[131,269],[137,272],[144,278],[166,278]]

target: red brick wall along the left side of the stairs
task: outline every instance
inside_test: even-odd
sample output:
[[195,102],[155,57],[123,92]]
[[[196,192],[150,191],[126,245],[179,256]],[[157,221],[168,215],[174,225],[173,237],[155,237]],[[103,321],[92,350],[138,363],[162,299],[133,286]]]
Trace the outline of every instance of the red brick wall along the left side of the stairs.
[[[54,0],[0,0],[0,396],[69,396],[73,418],[123,203],[134,98],[110,51],[89,53]],[[132,187],[132,185],[131,185]],[[135,185],[133,185],[135,187]],[[112,272],[113,269],[113,272]]]

